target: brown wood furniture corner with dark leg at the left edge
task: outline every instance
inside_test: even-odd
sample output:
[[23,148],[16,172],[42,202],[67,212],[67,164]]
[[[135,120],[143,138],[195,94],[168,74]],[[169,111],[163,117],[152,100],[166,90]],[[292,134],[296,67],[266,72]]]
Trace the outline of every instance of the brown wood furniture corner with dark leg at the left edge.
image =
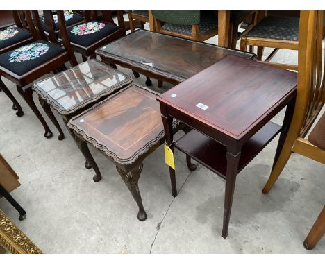
[[26,218],[26,211],[12,198],[10,192],[20,186],[17,173],[0,154],[0,198],[3,196],[19,212],[19,220]]

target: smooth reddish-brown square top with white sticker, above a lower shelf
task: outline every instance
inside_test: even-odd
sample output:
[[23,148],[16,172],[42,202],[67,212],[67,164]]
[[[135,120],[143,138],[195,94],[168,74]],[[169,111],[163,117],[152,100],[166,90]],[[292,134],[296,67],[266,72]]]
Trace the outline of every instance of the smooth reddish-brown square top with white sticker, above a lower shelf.
[[297,73],[228,55],[158,97],[191,119],[241,139],[296,92]]

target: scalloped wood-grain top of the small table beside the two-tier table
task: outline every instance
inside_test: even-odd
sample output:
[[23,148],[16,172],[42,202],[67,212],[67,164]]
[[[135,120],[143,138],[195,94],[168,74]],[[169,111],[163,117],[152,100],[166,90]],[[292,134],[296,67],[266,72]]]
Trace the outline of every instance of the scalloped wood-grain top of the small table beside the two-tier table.
[[158,94],[129,85],[72,118],[68,126],[117,164],[134,163],[164,137]]

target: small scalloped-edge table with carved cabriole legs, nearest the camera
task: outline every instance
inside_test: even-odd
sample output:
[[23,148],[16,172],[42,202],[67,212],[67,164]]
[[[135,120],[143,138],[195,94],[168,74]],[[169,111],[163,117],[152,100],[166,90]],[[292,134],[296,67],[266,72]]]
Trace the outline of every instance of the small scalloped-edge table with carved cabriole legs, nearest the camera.
[[[147,218],[138,187],[142,162],[165,141],[157,96],[156,92],[131,84],[68,123],[79,138],[81,151],[94,169],[98,167],[87,143],[116,164],[119,175],[138,204],[140,221]],[[173,128],[176,127],[175,122]],[[98,171],[94,180],[100,179]]]

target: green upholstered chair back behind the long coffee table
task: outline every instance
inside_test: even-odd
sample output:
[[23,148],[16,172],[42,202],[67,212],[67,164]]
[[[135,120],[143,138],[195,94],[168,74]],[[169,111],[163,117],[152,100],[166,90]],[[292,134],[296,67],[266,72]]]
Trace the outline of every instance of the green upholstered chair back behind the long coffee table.
[[153,17],[161,22],[178,25],[198,25],[201,11],[151,11]]

